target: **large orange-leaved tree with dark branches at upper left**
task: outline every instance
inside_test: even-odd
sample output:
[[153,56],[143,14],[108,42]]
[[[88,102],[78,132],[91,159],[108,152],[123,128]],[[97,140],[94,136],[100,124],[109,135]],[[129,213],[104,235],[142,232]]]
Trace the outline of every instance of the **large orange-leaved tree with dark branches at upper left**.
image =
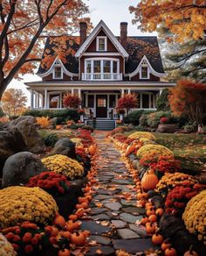
[[[0,100],[14,77],[37,68],[46,36],[58,36],[56,55],[64,55],[65,35],[75,32],[80,20],[90,25],[83,18],[87,12],[82,0],[0,1]],[[45,63],[51,65],[46,58]]]

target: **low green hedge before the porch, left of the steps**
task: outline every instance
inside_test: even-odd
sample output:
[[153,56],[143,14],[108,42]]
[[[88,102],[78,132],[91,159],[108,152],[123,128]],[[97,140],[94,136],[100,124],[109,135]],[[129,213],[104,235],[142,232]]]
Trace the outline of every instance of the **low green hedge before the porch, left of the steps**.
[[24,116],[33,117],[61,117],[67,120],[74,120],[77,122],[79,120],[79,114],[77,110],[64,109],[64,110],[26,110]]

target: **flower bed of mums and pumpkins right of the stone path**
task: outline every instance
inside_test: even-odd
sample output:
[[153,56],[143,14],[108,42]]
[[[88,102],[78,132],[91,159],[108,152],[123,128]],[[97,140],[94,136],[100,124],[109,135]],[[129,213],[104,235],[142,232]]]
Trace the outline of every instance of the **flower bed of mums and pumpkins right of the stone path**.
[[[153,134],[134,132],[127,138],[114,134],[109,132],[107,137],[126,161],[136,183],[137,203],[146,210],[140,227],[144,226],[153,244],[159,246],[158,253],[204,255],[205,185],[196,176],[182,173],[180,162],[167,147],[144,145],[155,143]],[[138,145],[137,153],[133,144]],[[190,245],[193,248],[189,251]]]

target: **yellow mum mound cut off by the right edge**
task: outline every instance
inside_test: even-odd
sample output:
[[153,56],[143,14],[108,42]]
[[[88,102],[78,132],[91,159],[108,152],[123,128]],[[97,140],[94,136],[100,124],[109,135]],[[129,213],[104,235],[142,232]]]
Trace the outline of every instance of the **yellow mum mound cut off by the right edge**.
[[206,190],[194,196],[187,204],[182,219],[190,233],[206,245]]

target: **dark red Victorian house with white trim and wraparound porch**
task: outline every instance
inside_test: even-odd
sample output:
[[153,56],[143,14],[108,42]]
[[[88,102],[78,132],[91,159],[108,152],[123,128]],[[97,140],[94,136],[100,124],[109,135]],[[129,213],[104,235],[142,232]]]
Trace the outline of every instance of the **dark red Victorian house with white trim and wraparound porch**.
[[[174,86],[161,81],[165,73],[157,38],[127,36],[125,22],[120,23],[119,37],[102,20],[89,35],[86,23],[79,28],[78,37],[67,36],[64,61],[54,53],[55,37],[47,38],[38,68],[42,81],[25,83],[31,109],[61,109],[62,97],[72,92],[81,98],[79,107],[89,109],[93,117],[110,118],[120,96],[135,92],[138,109],[155,110],[162,89]],[[49,55],[52,65],[45,68]]]

